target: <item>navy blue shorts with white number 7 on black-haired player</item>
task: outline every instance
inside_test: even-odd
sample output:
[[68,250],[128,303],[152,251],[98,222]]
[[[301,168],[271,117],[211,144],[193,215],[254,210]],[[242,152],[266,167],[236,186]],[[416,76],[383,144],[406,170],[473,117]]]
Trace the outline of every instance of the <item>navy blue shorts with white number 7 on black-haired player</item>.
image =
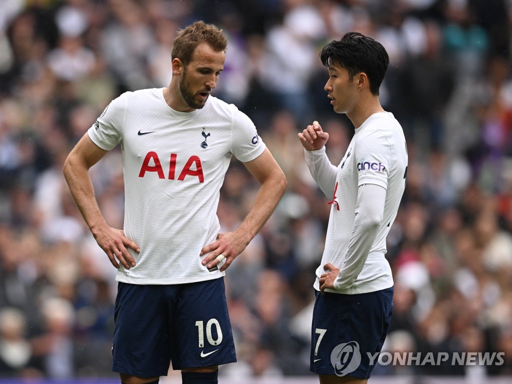
[[[393,314],[393,291],[344,295],[316,292],[310,370],[368,379]],[[370,354],[370,356],[369,356]]]

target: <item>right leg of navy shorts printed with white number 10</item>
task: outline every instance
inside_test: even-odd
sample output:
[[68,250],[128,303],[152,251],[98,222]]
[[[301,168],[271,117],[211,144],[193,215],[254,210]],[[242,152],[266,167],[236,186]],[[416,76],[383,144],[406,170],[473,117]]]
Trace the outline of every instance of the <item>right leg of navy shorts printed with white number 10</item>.
[[175,314],[173,369],[237,361],[223,277],[181,285]]

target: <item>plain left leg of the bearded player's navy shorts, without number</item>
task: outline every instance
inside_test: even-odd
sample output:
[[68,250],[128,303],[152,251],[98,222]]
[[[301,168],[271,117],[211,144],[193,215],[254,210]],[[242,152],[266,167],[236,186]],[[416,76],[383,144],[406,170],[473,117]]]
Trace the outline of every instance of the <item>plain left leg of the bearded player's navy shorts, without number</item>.
[[119,282],[112,346],[114,372],[139,377],[167,375],[168,287]]

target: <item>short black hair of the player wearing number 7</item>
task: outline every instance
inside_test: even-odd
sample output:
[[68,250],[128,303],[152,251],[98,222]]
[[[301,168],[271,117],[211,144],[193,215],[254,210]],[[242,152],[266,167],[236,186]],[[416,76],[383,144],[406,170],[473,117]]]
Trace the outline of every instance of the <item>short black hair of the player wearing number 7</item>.
[[334,65],[345,68],[351,81],[357,73],[365,72],[370,92],[379,94],[380,84],[389,67],[389,56],[382,44],[373,38],[359,32],[348,32],[340,40],[327,44],[319,56],[327,68]]

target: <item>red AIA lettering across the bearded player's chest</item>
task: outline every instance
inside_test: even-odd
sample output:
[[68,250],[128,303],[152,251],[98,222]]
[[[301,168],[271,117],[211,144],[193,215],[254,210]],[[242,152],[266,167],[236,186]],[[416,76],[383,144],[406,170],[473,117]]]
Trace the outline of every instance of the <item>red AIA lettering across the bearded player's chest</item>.
[[[175,180],[176,179],[176,160],[178,158],[178,154],[171,153],[170,161],[169,161],[169,169],[167,171],[167,179]],[[166,178],[165,173],[163,171],[162,163],[158,154],[154,151],[147,152],[144,157],[144,161],[142,161],[142,166],[140,167],[139,177],[148,177],[146,173],[156,173],[158,178]],[[204,174],[203,174],[203,166],[201,165],[201,159],[199,156],[190,156],[180,171],[178,176],[178,180],[183,181],[185,177],[193,176],[197,177],[199,183],[204,183]]]

